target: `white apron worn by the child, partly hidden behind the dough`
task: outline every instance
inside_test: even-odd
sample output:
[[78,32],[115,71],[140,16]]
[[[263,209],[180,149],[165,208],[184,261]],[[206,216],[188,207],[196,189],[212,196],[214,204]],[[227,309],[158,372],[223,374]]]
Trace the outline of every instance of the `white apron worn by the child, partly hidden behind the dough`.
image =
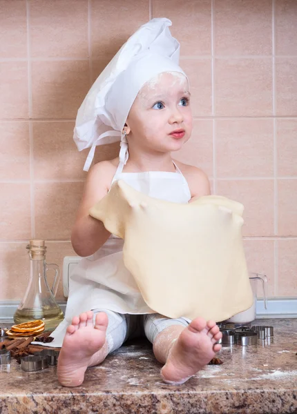
[[[122,179],[150,197],[188,203],[189,186],[178,166],[174,166],[175,172],[122,172],[124,164],[120,163],[113,181]],[[65,319],[52,333],[54,341],[46,346],[61,346],[72,318],[95,308],[117,313],[155,313],[144,302],[135,279],[124,266],[123,245],[123,239],[111,235],[96,253],[80,260],[69,280]]]

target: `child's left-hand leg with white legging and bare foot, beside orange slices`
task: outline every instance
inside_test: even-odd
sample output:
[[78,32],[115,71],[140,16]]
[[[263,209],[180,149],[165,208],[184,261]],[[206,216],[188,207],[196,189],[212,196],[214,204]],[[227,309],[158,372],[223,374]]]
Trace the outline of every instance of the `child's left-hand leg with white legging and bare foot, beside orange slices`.
[[[107,330],[106,330],[107,328]],[[126,340],[126,315],[95,310],[74,317],[67,328],[58,359],[58,380],[79,386],[88,366],[100,364]]]

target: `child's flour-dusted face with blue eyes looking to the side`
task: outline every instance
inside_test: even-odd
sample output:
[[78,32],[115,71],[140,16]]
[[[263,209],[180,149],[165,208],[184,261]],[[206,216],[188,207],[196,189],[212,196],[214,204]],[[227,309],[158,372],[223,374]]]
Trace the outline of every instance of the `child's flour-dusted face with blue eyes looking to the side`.
[[[148,151],[171,152],[182,148],[192,132],[190,92],[184,75],[163,72],[147,82],[129,112],[128,145]],[[184,136],[171,132],[184,130]]]

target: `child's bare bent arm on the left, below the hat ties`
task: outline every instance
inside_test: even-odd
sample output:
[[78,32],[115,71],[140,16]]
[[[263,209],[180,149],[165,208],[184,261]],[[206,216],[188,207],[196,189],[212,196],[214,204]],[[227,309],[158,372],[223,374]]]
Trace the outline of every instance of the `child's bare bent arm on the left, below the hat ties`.
[[73,249],[79,256],[93,255],[111,235],[102,221],[91,217],[88,210],[108,193],[115,170],[111,161],[103,161],[95,164],[88,172],[71,233]]

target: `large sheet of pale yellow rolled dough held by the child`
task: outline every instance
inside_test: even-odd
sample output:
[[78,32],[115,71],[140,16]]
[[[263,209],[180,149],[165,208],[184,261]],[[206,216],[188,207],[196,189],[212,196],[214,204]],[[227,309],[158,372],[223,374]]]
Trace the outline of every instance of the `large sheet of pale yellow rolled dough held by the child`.
[[144,301],[167,317],[215,322],[253,304],[242,246],[242,204],[206,196],[191,204],[148,197],[124,181],[90,209],[124,239],[124,264]]

